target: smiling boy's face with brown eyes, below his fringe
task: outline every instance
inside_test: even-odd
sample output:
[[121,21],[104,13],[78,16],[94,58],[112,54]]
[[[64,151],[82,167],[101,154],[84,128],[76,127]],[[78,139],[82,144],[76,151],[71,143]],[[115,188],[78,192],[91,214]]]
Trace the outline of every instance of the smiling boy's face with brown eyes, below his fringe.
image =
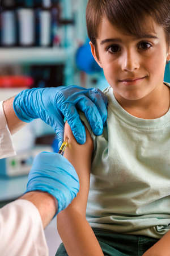
[[99,59],[91,44],[92,54],[119,98],[140,100],[163,87],[165,64],[170,59],[165,32],[147,17],[143,34],[143,38],[126,35],[104,17],[96,40]]

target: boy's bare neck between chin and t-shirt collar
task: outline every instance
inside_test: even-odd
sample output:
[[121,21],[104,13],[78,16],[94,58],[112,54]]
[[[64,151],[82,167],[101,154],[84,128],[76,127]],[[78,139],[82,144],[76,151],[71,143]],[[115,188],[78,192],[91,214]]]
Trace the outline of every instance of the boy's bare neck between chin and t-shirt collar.
[[134,117],[156,119],[168,112],[170,107],[170,89],[168,86],[164,86],[158,98],[154,98],[154,100],[151,98],[152,96],[138,101],[124,101],[116,97],[122,108]]

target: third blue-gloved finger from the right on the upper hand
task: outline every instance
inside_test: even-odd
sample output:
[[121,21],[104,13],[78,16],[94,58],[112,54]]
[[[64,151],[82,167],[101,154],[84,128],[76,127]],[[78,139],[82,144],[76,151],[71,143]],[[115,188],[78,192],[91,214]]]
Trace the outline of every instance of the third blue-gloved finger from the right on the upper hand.
[[79,114],[75,106],[73,104],[70,104],[69,102],[65,102],[65,104],[62,104],[62,106],[60,106],[60,111],[69,123],[76,141],[79,144],[84,144],[86,142],[86,130],[80,120]]

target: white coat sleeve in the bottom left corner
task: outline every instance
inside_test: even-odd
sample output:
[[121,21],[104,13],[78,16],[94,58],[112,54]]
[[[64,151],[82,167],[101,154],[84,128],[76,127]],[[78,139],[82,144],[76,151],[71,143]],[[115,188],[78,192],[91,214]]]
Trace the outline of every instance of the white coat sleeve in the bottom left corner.
[[31,202],[18,199],[0,209],[0,255],[49,255],[40,213]]

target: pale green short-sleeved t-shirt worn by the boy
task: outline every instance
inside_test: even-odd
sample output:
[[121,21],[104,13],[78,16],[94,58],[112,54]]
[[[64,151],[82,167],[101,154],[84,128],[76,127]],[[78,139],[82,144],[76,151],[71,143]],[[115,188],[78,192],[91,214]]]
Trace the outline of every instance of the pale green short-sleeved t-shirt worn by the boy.
[[170,229],[170,110],[134,117],[108,96],[107,128],[94,139],[87,220],[95,228],[161,238]]

